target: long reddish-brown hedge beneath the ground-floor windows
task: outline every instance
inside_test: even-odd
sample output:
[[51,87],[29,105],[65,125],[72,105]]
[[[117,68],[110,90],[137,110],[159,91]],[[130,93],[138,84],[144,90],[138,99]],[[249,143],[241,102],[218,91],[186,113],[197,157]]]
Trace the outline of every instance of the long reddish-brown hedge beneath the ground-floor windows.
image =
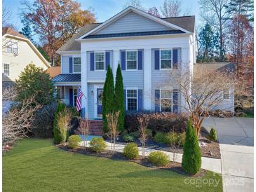
[[184,132],[186,129],[188,119],[186,114],[151,113],[144,111],[143,113],[126,112],[125,127],[128,132],[137,131],[139,127],[137,117],[145,114],[149,116],[148,128],[154,132]]

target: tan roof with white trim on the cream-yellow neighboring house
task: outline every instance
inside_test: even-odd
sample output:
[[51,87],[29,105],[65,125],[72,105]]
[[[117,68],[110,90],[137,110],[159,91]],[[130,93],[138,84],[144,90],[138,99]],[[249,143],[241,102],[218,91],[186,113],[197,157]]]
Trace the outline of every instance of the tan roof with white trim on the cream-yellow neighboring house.
[[25,41],[29,44],[29,46],[34,50],[34,53],[36,53],[37,56],[41,59],[43,64],[46,65],[46,67],[51,67],[50,63],[46,60],[45,57],[39,52],[39,50],[34,46],[34,44],[23,34],[20,34],[19,32],[15,31],[15,29],[12,29],[11,27],[2,27],[2,37],[8,37],[11,39],[18,39],[20,41]]

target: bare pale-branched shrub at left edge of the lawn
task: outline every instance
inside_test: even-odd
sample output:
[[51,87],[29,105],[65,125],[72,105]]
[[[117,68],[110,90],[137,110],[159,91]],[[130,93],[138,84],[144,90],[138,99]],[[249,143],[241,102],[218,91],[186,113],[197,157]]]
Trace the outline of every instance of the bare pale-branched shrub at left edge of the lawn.
[[6,146],[15,143],[18,139],[27,137],[27,133],[30,132],[34,112],[41,107],[40,104],[34,106],[34,97],[29,97],[18,103],[17,107],[13,107],[2,117],[3,151],[6,151]]

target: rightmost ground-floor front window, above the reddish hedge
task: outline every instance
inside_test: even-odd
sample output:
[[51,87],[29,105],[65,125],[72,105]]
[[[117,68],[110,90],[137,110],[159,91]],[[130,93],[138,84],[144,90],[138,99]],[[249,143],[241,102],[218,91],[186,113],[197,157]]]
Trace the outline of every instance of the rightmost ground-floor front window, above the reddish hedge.
[[161,111],[172,111],[172,92],[171,90],[161,90],[160,92]]

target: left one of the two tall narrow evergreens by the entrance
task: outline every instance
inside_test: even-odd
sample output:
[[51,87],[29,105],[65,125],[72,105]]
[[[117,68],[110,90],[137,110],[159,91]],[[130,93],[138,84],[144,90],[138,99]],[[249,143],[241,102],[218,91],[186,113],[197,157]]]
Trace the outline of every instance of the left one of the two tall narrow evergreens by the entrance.
[[111,67],[107,68],[107,75],[103,88],[102,98],[102,120],[103,130],[107,132],[107,118],[106,115],[114,111],[114,77]]

